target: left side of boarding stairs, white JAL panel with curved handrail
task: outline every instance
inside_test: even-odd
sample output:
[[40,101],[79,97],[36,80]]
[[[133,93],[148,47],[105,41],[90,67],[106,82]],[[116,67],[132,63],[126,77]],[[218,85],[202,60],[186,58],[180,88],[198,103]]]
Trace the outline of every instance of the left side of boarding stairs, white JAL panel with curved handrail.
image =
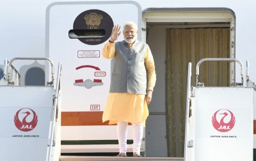
[[[44,60],[51,65],[51,82],[45,86],[21,86],[15,60]],[[60,75],[48,58],[14,58],[4,61],[0,81],[0,160],[59,160]]]

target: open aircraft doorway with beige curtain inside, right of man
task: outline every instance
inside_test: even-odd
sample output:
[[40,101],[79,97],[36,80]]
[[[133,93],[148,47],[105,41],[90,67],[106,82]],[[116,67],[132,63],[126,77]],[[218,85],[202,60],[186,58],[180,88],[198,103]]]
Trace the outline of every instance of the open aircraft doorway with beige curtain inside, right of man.
[[[234,58],[234,19],[229,10],[143,11],[143,38],[152,50],[157,75],[145,132],[147,157],[183,157],[188,63],[195,86],[200,59]],[[230,86],[232,70],[234,65],[227,62],[204,62],[199,80],[205,86]]]

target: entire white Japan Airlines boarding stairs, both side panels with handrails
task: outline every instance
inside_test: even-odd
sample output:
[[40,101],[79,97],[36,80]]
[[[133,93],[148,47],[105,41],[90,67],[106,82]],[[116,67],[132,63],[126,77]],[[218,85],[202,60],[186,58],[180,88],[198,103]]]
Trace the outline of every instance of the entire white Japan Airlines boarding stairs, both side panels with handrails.
[[[14,60],[46,60],[52,80],[45,86],[21,86]],[[238,62],[241,83],[234,87],[204,87],[198,82],[204,61]],[[248,63],[246,64],[248,65]],[[196,87],[191,87],[188,67],[186,137],[184,158],[60,156],[60,75],[54,82],[54,66],[47,58],[15,58],[4,62],[0,80],[0,160],[253,160],[253,87],[246,66],[237,59],[202,59],[196,65]]]

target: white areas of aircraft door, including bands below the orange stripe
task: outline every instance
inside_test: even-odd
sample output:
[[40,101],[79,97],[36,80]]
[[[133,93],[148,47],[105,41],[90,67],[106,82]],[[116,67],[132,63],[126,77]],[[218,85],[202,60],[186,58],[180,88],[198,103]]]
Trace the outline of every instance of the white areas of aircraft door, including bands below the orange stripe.
[[[130,14],[127,14],[128,12]],[[99,25],[92,26],[86,21],[86,17],[92,21],[97,20]],[[51,60],[60,61],[63,65],[61,76],[63,80],[61,109],[63,112],[99,113],[104,110],[111,79],[111,60],[102,57],[102,48],[108,42],[113,25],[123,25],[127,20],[136,22],[141,34],[141,8],[138,3],[91,1],[52,3],[48,6],[46,10],[46,54]],[[106,38],[70,39],[68,31],[72,29],[104,29]],[[138,36],[138,39],[140,37]],[[123,39],[121,34],[118,41]],[[77,116],[74,119],[82,118]],[[100,125],[102,115],[94,119],[99,120],[99,125],[83,125],[83,123],[63,125],[61,140],[71,142],[76,140],[117,141],[116,126]],[[129,127],[127,139],[132,139],[131,127]],[[131,145],[128,148],[131,151]],[[61,146],[62,153],[116,151],[118,151],[117,144],[71,143]]]

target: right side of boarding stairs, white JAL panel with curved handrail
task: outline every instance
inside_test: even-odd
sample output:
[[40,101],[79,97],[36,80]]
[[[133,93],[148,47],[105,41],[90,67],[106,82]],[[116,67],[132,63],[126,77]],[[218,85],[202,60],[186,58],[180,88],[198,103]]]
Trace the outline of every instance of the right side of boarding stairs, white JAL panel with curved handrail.
[[[199,82],[199,67],[204,61],[237,62],[241,83],[234,87],[204,87]],[[237,59],[207,58],[196,64],[196,87],[191,87],[191,62],[188,66],[186,102],[185,161],[252,161],[253,95],[255,85],[246,85],[243,64]]]

